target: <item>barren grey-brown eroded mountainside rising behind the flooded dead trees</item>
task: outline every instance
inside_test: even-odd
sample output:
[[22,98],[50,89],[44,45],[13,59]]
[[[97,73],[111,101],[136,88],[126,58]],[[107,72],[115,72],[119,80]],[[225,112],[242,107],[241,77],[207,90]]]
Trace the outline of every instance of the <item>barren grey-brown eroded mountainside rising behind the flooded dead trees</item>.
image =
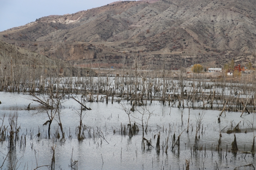
[[197,56],[196,62],[216,61],[221,66],[231,58],[252,60],[238,58],[254,53],[255,19],[253,0],[121,1],[75,14],[42,17],[0,32],[0,39],[12,43],[64,41],[68,60],[97,58],[95,42],[101,42],[103,56],[127,57],[139,52],[157,59],[165,53]]

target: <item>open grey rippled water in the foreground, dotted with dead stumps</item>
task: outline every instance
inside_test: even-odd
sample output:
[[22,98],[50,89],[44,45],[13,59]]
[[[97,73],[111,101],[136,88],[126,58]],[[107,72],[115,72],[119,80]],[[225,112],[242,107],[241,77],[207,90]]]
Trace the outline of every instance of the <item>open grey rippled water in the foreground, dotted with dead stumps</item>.
[[[74,97],[80,98],[80,96]],[[0,117],[3,118],[5,115],[4,124],[8,126],[9,114],[17,112],[17,121],[20,126],[19,141],[14,150],[8,149],[8,140],[0,142],[0,166],[1,162],[4,162],[5,155],[10,151],[2,169],[8,169],[14,165],[16,169],[35,169],[39,166],[42,167],[38,169],[48,169],[49,167],[43,165],[51,165],[52,147],[55,147],[55,169],[71,169],[72,149],[72,159],[77,161],[76,169],[186,169],[186,159],[190,162],[189,169],[215,169],[216,166],[218,169],[234,169],[255,162],[254,154],[245,153],[245,151],[251,151],[253,143],[254,132],[251,123],[255,120],[254,113],[244,113],[240,117],[241,112],[226,112],[226,117],[223,113],[218,123],[220,114],[218,110],[190,109],[189,116],[188,108],[173,108],[153,101],[151,105],[144,106],[144,108],[137,106],[138,111],[135,109],[132,112],[131,123],[138,123],[139,132],[129,137],[127,134],[121,135],[120,132],[121,123],[126,127],[129,123],[129,117],[122,109],[123,107],[130,109],[129,103],[86,102],[86,106],[92,110],[83,111],[85,116],[82,122],[87,128],[84,130],[86,138],[78,141],[76,127],[79,126],[80,104],[69,98],[63,100],[61,107],[61,123],[65,132],[65,141],[60,141],[55,137],[55,132],[57,130],[60,132],[56,120],[53,120],[51,124],[51,138],[49,139],[48,125],[43,126],[48,120],[47,114],[42,109],[25,110],[30,103],[30,108],[39,106],[32,99],[35,98],[30,95],[0,92],[2,102]],[[153,147],[142,148],[142,114],[139,112],[142,113],[143,109],[148,109],[153,113],[148,120],[148,132],[144,137],[148,141],[151,139],[152,146],[155,147],[157,134],[160,132],[159,152]],[[189,132],[186,133],[188,117]],[[200,134],[199,149],[193,151],[197,120],[200,117],[202,121],[198,132],[198,135]],[[57,119],[57,116],[55,118]],[[144,127],[147,118],[148,115],[144,115]],[[226,132],[231,129],[232,123],[234,128],[239,122],[241,122],[239,124],[241,132],[236,133],[239,151],[233,153],[231,144],[234,141],[234,133],[227,134]],[[36,136],[38,132],[40,132],[40,137]],[[176,140],[180,135],[180,148],[175,146],[172,151],[174,133]],[[221,149],[218,152],[220,133],[222,135]],[[22,135],[26,135],[25,147],[20,147],[18,144]],[[247,169],[250,168],[247,167]]]

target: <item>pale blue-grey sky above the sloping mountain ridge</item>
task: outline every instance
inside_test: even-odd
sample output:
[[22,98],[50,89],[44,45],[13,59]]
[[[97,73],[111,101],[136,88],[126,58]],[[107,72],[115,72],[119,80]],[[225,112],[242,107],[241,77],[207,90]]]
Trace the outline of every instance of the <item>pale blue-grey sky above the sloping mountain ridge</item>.
[[0,32],[49,15],[73,14],[117,0],[0,0]]

